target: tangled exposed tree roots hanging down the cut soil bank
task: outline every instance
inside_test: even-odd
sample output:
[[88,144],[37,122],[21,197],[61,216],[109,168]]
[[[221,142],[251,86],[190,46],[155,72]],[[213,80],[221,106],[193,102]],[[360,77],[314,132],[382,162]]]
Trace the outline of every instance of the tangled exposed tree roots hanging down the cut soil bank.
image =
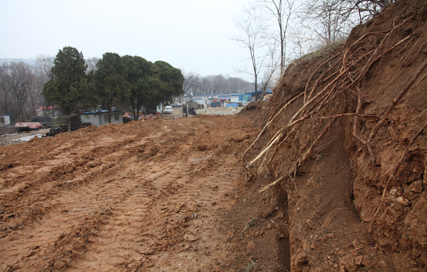
[[[322,62],[309,76],[305,85],[305,89],[301,93],[278,105],[276,109],[272,111],[262,131],[242,156],[244,168],[250,172],[253,177],[255,177],[257,174],[252,172],[249,168],[257,167],[258,171],[255,172],[258,174],[267,169],[268,166],[273,162],[274,158],[280,154],[280,152],[278,152],[280,146],[285,143],[291,144],[295,139],[297,139],[297,126],[300,127],[301,124],[305,124],[308,120],[316,120],[313,122],[313,124],[315,124],[314,129],[317,131],[318,136],[311,142],[311,144],[307,144],[301,148],[295,147],[295,154],[297,154],[295,155],[296,157],[293,158],[295,163],[287,166],[287,169],[283,169],[281,175],[275,173],[275,175],[277,174],[276,176],[279,177],[274,182],[261,188],[259,192],[264,192],[272,188],[276,184],[286,180],[288,177],[292,179],[292,176],[295,176],[298,167],[300,167],[301,164],[310,157],[311,153],[324,138],[332,124],[341,117],[353,117],[352,136],[363,147],[366,147],[370,154],[371,161],[375,162],[375,146],[372,143],[373,138],[375,137],[381,125],[391,114],[395,106],[399,103],[399,101],[411,88],[411,86],[413,86],[424,69],[427,67],[427,60],[420,66],[416,74],[407,82],[402,91],[399,92],[399,94],[390,103],[386,111],[380,116],[362,112],[363,93],[361,86],[363,86],[366,74],[373,67],[374,63],[381,60],[386,54],[395,50],[399,46],[406,44],[411,39],[417,38],[415,35],[413,36],[409,34],[403,39],[390,44],[391,37],[393,36],[392,34],[415,15],[416,14],[407,17],[401,22],[395,24],[389,31],[371,32],[364,34],[351,45],[349,45],[345,51],[335,54],[326,61]],[[378,38],[378,40],[375,41],[376,46],[374,48],[370,47],[368,42],[368,39],[372,39],[372,37]],[[418,48],[416,55],[421,52],[421,47]],[[410,52],[407,53],[405,58],[409,55],[409,53]],[[416,56],[414,56],[410,62],[414,61],[415,57]],[[417,84],[419,84],[426,76],[427,75],[422,77]],[[285,84],[285,82],[282,80],[280,84]],[[357,104],[354,106],[354,103],[352,104],[348,101],[357,101]],[[290,105],[300,106],[298,106],[299,108],[291,114],[288,112]],[[248,152],[254,148],[255,143],[260,142],[261,136],[269,131],[279,116],[281,116],[282,119],[287,120],[286,123],[280,128],[275,127],[274,131],[270,130],[270,133],[272,133],[273,136],[269,139],[269,141],[264,144],[264,146],[260,149],[259,152],[257,152],[256,155],[253,155],[253,158],[247,158],[249,157]],[[371,131],[363,132],[363,130],[359,131],[358,129],[358,124],[361,118],[376,118],[379,120],[371,129]],[[328,119],[332,120],[327,124],[322,122],[322,120]],[[368,135],[366,140],[364,139],[363,135]],[[415,138],[416,137],[413,138],[411,143],[415,140]],[[406,153],[407,151],[405,152],[404,156]],[[388,183],[394,177],[394,174],[397,171],[398,166],[401,164],[404,156],[401,158],[392,176],[387,181],[383,198]],[[381,200],[381,203],[382,201],[383,200]],[[374,217],[370,220],[375,219],[379,209],[381,208],[381,203]]]

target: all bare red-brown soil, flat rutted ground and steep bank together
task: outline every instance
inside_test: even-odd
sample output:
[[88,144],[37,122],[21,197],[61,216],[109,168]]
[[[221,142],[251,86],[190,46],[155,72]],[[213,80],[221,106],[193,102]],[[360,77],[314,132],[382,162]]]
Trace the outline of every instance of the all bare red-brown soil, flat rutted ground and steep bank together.
[[400,0],[238,115],[1,147],[0,271],[426,271],[426,29]]

